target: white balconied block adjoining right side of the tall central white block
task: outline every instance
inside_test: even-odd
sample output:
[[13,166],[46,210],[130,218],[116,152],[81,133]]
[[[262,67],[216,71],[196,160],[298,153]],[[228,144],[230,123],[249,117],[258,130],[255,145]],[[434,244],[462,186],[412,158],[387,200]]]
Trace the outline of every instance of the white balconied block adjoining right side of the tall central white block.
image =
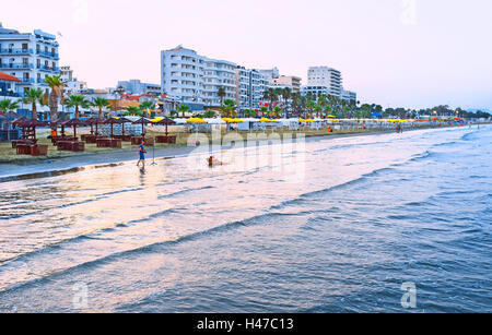
[[[203,105],[219,107],[224,99],[236,99],[236,64],[225,60],[204,58]],[[224,96],[219,92],[223,89]]]

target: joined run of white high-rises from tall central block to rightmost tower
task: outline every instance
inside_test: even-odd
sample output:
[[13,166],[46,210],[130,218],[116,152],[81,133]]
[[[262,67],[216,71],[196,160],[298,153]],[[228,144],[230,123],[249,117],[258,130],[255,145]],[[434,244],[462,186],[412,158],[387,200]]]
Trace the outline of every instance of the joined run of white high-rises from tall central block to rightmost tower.
[[241,109],[257,108],[265,101],[265,92],[271,87],[356,101],[354,92],[343,89],[340,71],[328,67],[309,68],[308,83],[302,86],[301,77],[281,75],[277,68],[247,69],[231,61],[201,56],[183,46],[161,51],[162,94],[175,97],[191,109],[219,107],[224,99],[235,100]]

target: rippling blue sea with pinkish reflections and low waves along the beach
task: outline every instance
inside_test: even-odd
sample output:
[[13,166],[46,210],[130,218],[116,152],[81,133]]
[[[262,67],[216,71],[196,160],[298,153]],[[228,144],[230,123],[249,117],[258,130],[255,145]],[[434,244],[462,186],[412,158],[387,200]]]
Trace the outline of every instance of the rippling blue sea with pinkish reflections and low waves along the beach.
[[5,180],[0,311],[79,311],[82,285],[81,311],[399,312],[411,282],[412,311],[491,312],[491,140],[424,130],[306,142],[282,167],[267,147],[242,170],[183,157]]

